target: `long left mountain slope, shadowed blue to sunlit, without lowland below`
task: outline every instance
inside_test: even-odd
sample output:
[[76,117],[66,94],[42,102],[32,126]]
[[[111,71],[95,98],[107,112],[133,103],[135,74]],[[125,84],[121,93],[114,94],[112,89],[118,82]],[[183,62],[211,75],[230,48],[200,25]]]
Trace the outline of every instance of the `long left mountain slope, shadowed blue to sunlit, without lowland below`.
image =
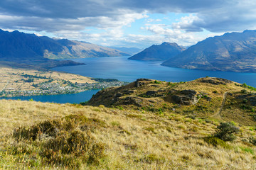
[[1,59],[64,59],[78,57],[107,57],[127,55],[125,52],[66,39],[52,39],[46,36],[20,33],[17,30],[8,32],[0,30]]

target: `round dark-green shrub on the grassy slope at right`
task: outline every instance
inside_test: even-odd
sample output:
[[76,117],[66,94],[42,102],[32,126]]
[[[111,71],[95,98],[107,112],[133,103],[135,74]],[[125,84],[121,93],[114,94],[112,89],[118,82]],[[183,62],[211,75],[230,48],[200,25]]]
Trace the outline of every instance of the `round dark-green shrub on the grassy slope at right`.
[[223,141],[233,141],[235,140],[234,133],[238,133],[239,128],[233,125],[233,123],[220,123],[217,127],[217,132],[215,133],[215,137],[220,138]]

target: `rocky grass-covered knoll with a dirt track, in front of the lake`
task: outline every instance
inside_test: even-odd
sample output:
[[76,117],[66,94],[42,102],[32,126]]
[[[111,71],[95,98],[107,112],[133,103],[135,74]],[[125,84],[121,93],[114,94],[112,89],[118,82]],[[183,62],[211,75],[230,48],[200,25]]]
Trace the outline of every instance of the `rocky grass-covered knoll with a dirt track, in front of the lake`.
[[255,90],[246,84],[210,77],[179,83],[138,79],[127,86],[99,91],[88,104],[255,125]]

